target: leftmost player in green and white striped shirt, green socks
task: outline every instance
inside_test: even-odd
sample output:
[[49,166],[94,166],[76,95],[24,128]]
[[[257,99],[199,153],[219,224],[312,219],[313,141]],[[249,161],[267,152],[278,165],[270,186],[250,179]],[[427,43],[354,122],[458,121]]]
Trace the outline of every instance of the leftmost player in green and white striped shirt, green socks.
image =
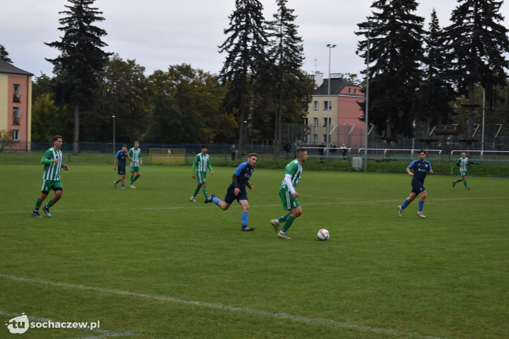
[[58,202],[62,197],[60,170],[64,168],[64,171],[69,171],[69,167],[62,164],[62,151],[60,151],[62,148],[62,137],[60,135],[55,135],[51,138],[51,140],[53,142],[53,147],[47,150],[41,159],[41,163],[44,164],[41,195],[39,195],[37,198],[34,210],[32,211],[32,215],[37,218],[42,218],[42,216],[39,214],[39,208],[41,207],[44,199],[46,199],[46,196],[48,196],[49,191],[52,189],[55,191],[55,196],[53,196],[48,204],[42,208],[44,213],[46,213],[46,216],[49,218],[51,217],[49,208],[56,204],[56,202]]

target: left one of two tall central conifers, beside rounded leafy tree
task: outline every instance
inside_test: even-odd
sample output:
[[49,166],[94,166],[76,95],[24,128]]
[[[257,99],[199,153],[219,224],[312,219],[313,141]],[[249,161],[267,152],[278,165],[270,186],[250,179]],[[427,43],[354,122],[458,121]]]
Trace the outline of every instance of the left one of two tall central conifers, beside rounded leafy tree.
[[238,146],[242,152],[244,121],[247,121],[252,102],[252,82],[261,65],[267,59],[264,46],[267,37],[264,30],[263,6],[258,0],[236,0],[235,10],[229,16],[230,27],[224,30],[227,40],[219,47],[226,52],[226,60],[219,73],[223,86],[227,86],[223,105],[238,121]]

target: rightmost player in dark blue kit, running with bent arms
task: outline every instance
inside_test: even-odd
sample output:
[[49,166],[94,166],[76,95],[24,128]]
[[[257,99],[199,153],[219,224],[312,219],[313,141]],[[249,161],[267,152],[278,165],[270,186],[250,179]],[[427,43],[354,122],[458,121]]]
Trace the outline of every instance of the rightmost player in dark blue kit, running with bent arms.
[[[426,159],[426,152],[424,150],[419,151],[419,160],[414,160],[407,167],[407,173],[410,177],[412,177],[412,191],[410,192],[410,196],[405,199],[401,206],[398,206],[398,215],[401,217],[401,212],[412,202],[414,201],[417,194],[420,194],[419,198],[419,209],[417,211],[417,215],[421,218],[425,218],[422,214],[422,207],[424,206],[424,201],[426,200],[426,188],[424,188],[424,179],[426,179],[426,174],[429,172],[433,174],[433,170],[431,169],[431,163]],[[413,168],[414,172],[412,173],[410,169]]]

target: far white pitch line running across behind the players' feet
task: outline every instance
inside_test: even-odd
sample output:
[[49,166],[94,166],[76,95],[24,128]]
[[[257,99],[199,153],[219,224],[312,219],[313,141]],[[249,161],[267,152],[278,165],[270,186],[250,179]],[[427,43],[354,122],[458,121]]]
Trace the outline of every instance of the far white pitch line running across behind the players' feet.
[[[302,195],[305,196],[305,195]],[[320,196],[316,196],[320,197]],[[329,199],[323,196],[323,199]],[[451,200],[483,200],[483,199],[509,199],[509,196],[486,196],[486,197],[465,197],[465,198],[444,198],[444,199],[432,199],[427,201],[427,203],[433,203],[435,201],[451,201]],[[374,204],[374,203],[395,203],[401,202],[404,199],[400,200],[372,200],[372,201],[351,201],[351,202],[335,202],[335,203],[307,203],[301,204],[302,206],[312,206],[312,205],[347,205],[347,204]],[[277,207],[281,206],[281,204],[275,205],[250,205],[249,207]],[[150,210],[178,210],[178,209],[195,209],[195,208],[214,208],[215,204],[212,206],[179,206],[179,207],[147,207],[147,208],[112,208],[112,209],[97,209],[97,210],[54,210],[58,212],[108,212],[108,211],[150,211]],[[240,208],[240,205],[232,205],[230,208]],[[51,210],[53,211],[53,209]],[[31,213],[32,211],[0,211],[0,214],[3,213]]]

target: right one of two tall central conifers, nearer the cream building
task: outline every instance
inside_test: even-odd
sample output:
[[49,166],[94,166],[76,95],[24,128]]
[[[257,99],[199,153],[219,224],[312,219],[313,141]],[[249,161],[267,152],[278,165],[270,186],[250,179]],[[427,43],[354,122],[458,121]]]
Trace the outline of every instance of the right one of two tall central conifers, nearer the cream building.
[[271,98],[269,91],[277,93],[273,105],[277,107],[274,139],[279,142],[282,123],[301,122],[313,93],[313,87],[309,86],[312,81],[301,71],[304,60],[302,38],[297,35],[294,10],[289,9],[287,3],[287,0],[277,0],[274,20],[267,22],[270,41],[267,61],[271,65],[266,68],[272,68],[267,74],[272,73],[273,81],[267,83],[262,76],[257,77],[258,88],[265,92],[262,97]]

